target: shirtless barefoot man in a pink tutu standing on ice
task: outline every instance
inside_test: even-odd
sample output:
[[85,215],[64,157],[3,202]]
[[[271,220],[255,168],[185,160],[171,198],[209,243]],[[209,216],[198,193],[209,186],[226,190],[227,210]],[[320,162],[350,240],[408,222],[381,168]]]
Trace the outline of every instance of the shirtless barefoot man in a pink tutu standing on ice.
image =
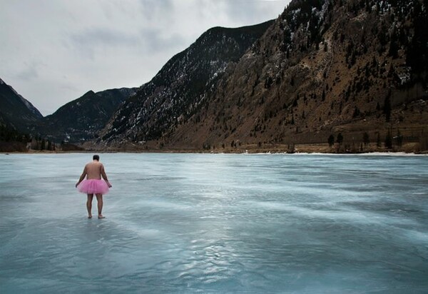
[[[108,182],[103,163],[99,162],[100,157],[94,155],[92,159],[92,162],[86,163],[83,173],[76,183],[76,188],[78,188],[79,192],[88,194],[88,201],[86,202],[88,218],[92,218],[93,194],[96,195],[96,201],[98,202],[98,218],[105,218],[102,214],[103,194],[108,192],[108,188],[111,188],[111,184]],[[104,181],[101,180],[101,177],[103,177]]]

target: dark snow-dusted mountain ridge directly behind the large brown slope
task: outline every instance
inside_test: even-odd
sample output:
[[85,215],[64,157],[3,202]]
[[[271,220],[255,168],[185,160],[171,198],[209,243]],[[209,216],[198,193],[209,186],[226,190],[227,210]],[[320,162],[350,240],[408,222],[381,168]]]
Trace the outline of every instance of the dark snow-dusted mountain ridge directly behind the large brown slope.
[[206,90],[262,36],[272,21],[238,29],[215,27],[173,56],[114,114],[103,144],[157,140],[200,111]]

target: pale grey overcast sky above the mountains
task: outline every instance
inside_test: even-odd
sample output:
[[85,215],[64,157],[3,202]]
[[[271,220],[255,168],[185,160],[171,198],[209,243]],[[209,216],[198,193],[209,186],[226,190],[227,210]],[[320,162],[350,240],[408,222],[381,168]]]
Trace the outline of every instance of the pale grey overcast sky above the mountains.
[[290,0],[0,0],[0,78],[46,116],[87,91],[138,87],[214,26]]

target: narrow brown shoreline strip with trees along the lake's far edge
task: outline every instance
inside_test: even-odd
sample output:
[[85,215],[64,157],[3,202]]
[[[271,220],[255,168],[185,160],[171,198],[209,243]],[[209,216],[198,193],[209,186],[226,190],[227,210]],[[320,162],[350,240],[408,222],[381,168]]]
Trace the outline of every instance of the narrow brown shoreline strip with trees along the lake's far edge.
[[[392,148],[385,148],[379,142],[367,144],[345,141],[343,143],[235,143],[232,146],[221,147],[195,145],[164,145],[162,142],[148,143],[116,143],[103,146],[100,143],[66,143],[56,144],[55,150],[35,150],[27,144],[26,148],[18,142],[0,142],[0,153],[325,153],[325,154],[361,154],[361,153],[407,153],[428,154],[423,142],[407,142],[401,145],[394,144]],[[20,147],[20,148],[17,148]]]

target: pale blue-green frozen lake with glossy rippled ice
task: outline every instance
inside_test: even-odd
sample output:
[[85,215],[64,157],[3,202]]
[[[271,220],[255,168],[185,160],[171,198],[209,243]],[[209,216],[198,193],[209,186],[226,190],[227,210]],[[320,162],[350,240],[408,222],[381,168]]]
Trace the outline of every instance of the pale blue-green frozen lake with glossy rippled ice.
[[0,154],[1,293],[428,293],[428,156],[100,156]]

